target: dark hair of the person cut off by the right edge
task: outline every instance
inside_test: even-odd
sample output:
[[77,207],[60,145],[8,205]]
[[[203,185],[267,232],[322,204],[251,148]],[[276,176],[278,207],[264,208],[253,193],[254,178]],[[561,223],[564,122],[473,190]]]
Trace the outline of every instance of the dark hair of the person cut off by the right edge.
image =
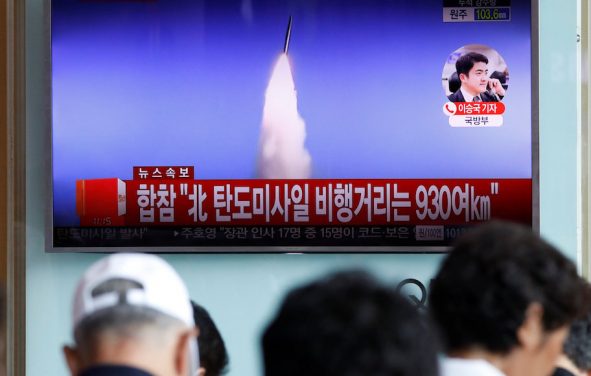
[[564,354],[578,369],[591,371],[591,312],[571,325],[564,342]]

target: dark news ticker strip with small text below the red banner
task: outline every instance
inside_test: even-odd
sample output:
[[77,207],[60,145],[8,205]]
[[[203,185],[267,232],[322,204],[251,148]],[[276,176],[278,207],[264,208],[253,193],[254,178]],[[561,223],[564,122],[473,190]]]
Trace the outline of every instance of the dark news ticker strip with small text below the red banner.
[[57,227],[53,235],[54,246],[66,248],[436,247],[449,245],[471,227],[447,225]]

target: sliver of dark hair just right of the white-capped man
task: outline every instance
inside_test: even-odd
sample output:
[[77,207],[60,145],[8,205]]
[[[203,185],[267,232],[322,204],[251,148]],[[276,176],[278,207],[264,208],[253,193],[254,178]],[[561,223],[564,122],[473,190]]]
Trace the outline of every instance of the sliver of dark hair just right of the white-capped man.
[[207,376],[223,375],[229,363],[224,340],[205,308],[193,301],[191,305],[195,326],[199,329],[197,343],[201,367],[205,368]]

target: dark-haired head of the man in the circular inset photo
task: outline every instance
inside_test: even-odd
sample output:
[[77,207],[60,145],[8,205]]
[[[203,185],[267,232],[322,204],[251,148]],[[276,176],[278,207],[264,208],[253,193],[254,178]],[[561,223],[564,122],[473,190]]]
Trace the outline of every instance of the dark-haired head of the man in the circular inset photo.
[[456,71],[464,90],[478,95],[487,90],[488,58],[478,52],[468,52],[456,60]]

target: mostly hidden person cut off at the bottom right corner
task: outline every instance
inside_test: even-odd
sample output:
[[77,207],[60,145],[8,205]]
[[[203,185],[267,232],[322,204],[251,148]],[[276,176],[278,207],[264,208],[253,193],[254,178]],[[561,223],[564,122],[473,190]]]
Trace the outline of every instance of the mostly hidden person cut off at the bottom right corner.
[[553,376],[591,375],[591,313],[571,325],[556,366]]

